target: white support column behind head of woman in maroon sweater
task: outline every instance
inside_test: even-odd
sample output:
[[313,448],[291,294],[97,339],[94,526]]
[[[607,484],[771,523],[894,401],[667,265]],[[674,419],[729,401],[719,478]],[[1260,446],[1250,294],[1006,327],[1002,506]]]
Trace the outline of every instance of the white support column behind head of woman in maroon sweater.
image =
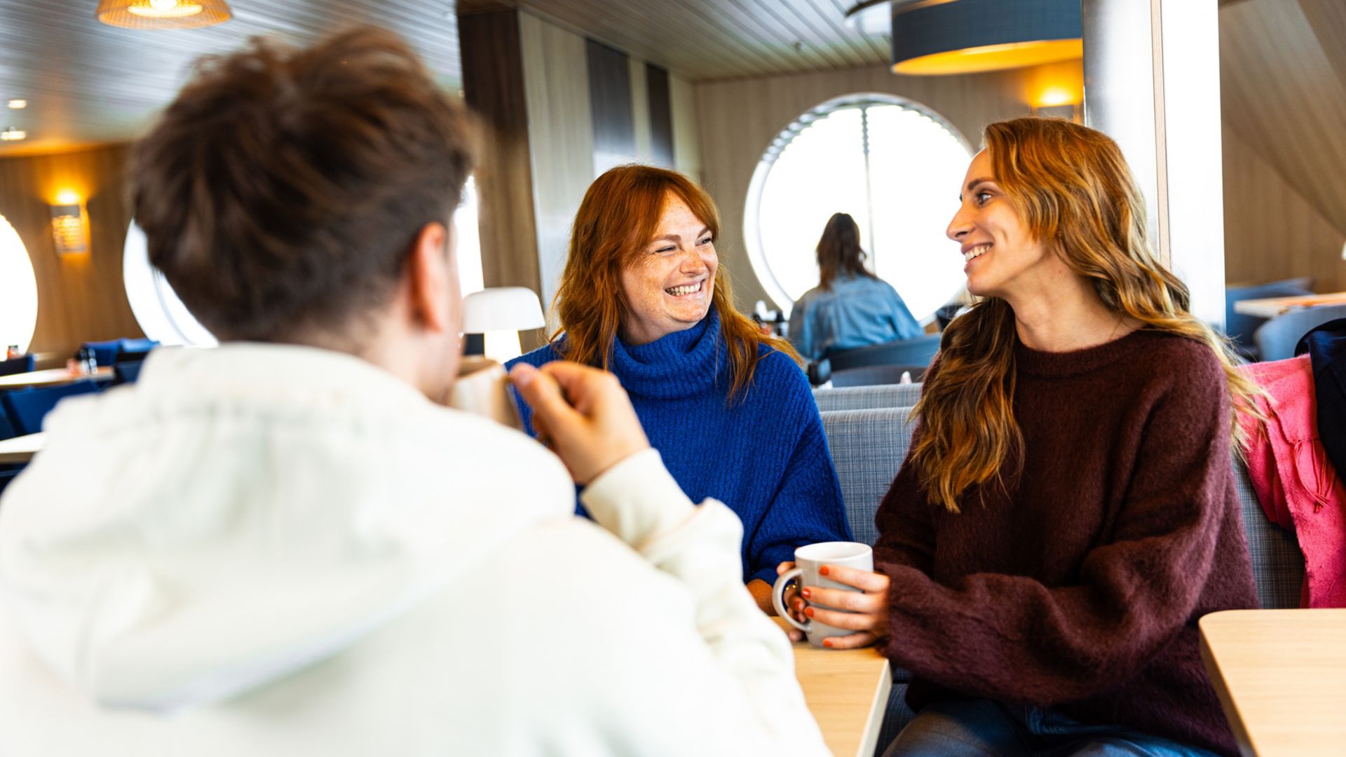
[[1082,0],[1085,124],[1117,140],[1160,260],[1194,315],[1225,321],[1215,0]]

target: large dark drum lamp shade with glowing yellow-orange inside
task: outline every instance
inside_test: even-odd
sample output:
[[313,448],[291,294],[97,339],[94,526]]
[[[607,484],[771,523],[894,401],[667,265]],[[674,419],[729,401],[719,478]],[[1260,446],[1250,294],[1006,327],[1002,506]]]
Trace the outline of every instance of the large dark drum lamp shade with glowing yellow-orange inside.
[[892,11],[892,71],[969,74],[1084,57],[1079,0],[956,0]]

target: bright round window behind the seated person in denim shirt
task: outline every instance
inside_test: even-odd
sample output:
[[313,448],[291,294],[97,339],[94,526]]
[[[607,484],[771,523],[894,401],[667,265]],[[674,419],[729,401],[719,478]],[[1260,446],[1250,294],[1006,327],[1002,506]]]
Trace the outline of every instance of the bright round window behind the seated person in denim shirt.
[[748,190],[743,230],[758,279],[789,311],[818,284],[828,218],[849,213],[871,269],[927,319],[965,283],[944,230],[970,156],[944,119],[896,97],[847,96],[805,113],[767,148]]

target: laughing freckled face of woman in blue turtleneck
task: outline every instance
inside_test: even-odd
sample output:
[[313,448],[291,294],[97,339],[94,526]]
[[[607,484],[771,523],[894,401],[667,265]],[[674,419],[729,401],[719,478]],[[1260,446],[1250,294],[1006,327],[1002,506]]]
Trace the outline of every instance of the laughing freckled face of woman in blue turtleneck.
[[654,238],[622,271],[629,304],[622,338],[646,345],[695,326],[711,310],[716,268],[711,230],[681,197],[669,194]]

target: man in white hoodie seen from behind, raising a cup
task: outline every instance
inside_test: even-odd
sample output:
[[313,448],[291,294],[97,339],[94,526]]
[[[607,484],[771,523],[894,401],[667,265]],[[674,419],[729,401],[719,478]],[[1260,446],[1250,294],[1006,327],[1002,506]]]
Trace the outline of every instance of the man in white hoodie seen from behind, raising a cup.
[[357,30],[203,63],[136,147],[223,343],[63,403],[0,501],[0,754],[826,753],[738,520],[615,378],[517,369],[557,454],[435,401],[471,143]]

